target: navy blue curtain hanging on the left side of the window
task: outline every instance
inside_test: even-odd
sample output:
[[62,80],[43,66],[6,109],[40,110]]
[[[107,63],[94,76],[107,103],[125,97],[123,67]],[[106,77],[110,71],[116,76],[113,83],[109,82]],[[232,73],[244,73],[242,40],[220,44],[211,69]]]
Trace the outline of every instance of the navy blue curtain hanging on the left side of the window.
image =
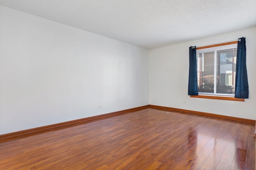
[[188,95],[198,96],[196,46],[189,47]]

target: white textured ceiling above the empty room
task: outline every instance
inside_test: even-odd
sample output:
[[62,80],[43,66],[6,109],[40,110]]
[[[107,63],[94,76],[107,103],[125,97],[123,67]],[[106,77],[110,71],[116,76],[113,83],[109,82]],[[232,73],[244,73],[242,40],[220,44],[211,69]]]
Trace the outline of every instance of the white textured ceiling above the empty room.
[[256,27],[256,0],[0,0],[0,4],[146,49]]

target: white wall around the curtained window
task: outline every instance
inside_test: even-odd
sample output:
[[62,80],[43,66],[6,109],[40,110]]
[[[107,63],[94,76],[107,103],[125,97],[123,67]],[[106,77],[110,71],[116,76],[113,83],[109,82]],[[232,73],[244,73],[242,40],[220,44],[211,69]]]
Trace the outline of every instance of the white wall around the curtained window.
[[[188,96],[189,47],[246,37],[249,99],[245,102],[190,98]],[[256,119],[256,27],[149,51],[151,105]],[[187,104],[183,104],[186,101]]]

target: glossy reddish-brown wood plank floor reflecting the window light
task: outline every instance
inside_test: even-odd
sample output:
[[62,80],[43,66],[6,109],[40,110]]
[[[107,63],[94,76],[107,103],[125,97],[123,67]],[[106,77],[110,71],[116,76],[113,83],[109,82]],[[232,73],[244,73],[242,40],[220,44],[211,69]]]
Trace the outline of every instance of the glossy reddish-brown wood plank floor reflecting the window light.
[[0,143],[0,170],[255,170],[254,124],[144,109]]

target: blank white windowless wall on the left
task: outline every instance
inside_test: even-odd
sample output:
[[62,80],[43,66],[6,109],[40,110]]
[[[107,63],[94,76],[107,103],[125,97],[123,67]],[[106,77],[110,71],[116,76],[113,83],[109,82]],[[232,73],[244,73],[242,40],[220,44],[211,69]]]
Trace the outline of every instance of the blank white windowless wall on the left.
[[146,49],[0,6],[0,134],[148,105],[148,64]]

